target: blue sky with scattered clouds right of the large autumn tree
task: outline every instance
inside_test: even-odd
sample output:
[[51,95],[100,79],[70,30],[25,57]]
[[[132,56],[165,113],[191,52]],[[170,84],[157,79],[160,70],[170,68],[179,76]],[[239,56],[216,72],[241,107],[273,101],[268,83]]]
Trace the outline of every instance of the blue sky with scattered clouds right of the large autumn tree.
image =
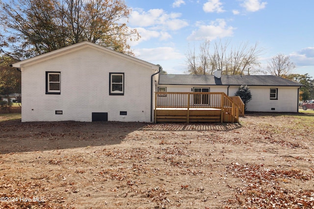
[[314,0],[125,0],[129,26],[141,39],[131,42],[139,59],[160,64],[168,74],[186,71],[185,54],[204,40],[228,39],[263,48],[271,57],[290,56],[293,73],[314,77]]

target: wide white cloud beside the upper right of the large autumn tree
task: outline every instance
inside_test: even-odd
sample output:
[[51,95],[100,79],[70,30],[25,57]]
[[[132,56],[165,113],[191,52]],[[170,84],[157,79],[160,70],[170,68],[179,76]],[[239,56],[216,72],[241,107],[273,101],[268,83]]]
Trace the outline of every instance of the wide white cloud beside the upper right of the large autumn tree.
[[129,23],[133,27],[150,27],[153,30],[179,30],[188,25],[179,19],[181,13],[166,13],[163,9],[150,9],[147,12],[133,9]]

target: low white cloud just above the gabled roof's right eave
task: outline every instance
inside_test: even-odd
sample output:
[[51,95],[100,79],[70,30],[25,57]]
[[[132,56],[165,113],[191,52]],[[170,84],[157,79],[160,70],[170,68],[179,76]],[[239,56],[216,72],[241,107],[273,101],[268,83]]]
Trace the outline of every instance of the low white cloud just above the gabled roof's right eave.
[[134,54],[139,59],[156,64],[165,60],[179,60],[185,57],[173,47],[140,48],[135,49]]

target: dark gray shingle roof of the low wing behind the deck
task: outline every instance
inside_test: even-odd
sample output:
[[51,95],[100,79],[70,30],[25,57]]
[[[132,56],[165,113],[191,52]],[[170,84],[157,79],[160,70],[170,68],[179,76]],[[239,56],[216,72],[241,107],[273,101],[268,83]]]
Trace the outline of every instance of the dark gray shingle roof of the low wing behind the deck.
[[304,86],[276,75],[159,75],[159,85]]

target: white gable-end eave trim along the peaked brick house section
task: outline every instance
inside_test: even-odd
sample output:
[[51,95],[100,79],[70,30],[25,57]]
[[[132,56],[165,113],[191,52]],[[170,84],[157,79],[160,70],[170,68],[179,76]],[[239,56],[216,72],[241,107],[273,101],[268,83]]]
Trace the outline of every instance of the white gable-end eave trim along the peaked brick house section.
[[142,65],[142,66],[151,68],[152,70],[158,70],[159,69],[159,67],[157,65],[154,65],[152,63],[146,62],[144,60],[140,60],[138,58],[135,58],[135,57],[132,57],[132,56],[120,53],[120,52],[117,52],[115,50],[106,48],[104,46],[93,44],[93,43],[88,42],[88,41],[84,41],[84,42],[80,42],[78,44],[74,44],[71,46],[59,48],[59,49],[56,49],[54,51],[38,55],[36,57],[32,57],[32,58],[14,63],[12,65],[12,67],[21,69],[23,67],[34,65],[36,63],[43,62],[43,61],[46,61],[46,60],[49,60],[49,59],[52,59],[55,57],[59,57],[59,56],[62,56],[62,55],[65,55],[65,54],[68,54],[68,53],[71,53],[71,52],[74,52],[77,50],[82,50],[82,49],[87,48],[87,47],[93,48],[93,49],[98,50],[98,51],[102,51],[106,54],[110,54],[112,56],[118,57],[119,59],[124,59],[124,60],[128,60],[130,62],[133,62],[133,63],[137,63],[138,65]]

